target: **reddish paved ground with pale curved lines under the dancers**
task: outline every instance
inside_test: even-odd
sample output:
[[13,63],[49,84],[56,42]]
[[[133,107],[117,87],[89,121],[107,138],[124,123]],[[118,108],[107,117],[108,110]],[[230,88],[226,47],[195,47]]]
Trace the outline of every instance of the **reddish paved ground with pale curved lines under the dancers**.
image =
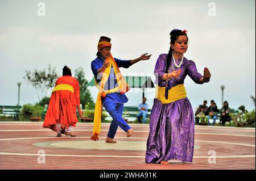
[[99,142],[90,140],[92,123],[77,124],[73,131],[77,137],[55,137],[42,124],[0,122],[0,169],[255,170],[255,128],[196,125],[193,163],[157,165],[144,162],[146,124],[130,124],[134,129],[130,138],[118,129],[117,144],[104,142],[109,124],[102,125]]

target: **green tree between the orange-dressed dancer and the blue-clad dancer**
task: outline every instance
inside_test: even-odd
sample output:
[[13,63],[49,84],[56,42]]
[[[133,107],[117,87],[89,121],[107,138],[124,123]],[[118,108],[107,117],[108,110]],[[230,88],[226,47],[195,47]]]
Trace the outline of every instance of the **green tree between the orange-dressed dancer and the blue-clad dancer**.
[[75,70],[75,77],[79,81],[80,86],[80,103],[82,106],[88,106],[89,109],[93,109],[95,104],[93,102],[90,91],[88,90],[88,81],[85,79],[84,69],[78,68]]

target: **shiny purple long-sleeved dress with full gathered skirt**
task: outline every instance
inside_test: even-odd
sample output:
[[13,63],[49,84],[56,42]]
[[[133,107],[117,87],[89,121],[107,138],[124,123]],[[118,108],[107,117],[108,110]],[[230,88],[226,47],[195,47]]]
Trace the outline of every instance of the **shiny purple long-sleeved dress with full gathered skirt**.
[[[158,86],[166,87],[162,77],[165,74],[167,54],[160,54],[155,65],[155,76]],[[176,65],[181,60],[176,61]],[[171,57],[169,73],[181,69],[178,78],[171,79],[171,87],[184,83],[187,75],[195,83],[203,77],[197,72],[195,62],[184,57],[180,68],[176,68]],[[171,96],[171,95],[168,95]],[[162,104],[154,99],[150,115],[150,133],[147,139],[146,163],[160,163],[170,159],[192,162],[194,150],[195,124],[193,109],[188,98],[176,100],[170,104]]]

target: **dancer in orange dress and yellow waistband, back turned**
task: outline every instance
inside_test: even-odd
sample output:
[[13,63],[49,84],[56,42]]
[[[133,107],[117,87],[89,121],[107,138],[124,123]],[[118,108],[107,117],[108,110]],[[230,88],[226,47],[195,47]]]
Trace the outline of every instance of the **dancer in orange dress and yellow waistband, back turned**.
[[57,132],[57,137],[61,137],[61,133],[76,136],[72,133],[72,127],[78,122],[76,109],[81,117],[79,82],[72,77],[71,69],[64,66],[63,76],[57,79],[52,90],[43,127]]

